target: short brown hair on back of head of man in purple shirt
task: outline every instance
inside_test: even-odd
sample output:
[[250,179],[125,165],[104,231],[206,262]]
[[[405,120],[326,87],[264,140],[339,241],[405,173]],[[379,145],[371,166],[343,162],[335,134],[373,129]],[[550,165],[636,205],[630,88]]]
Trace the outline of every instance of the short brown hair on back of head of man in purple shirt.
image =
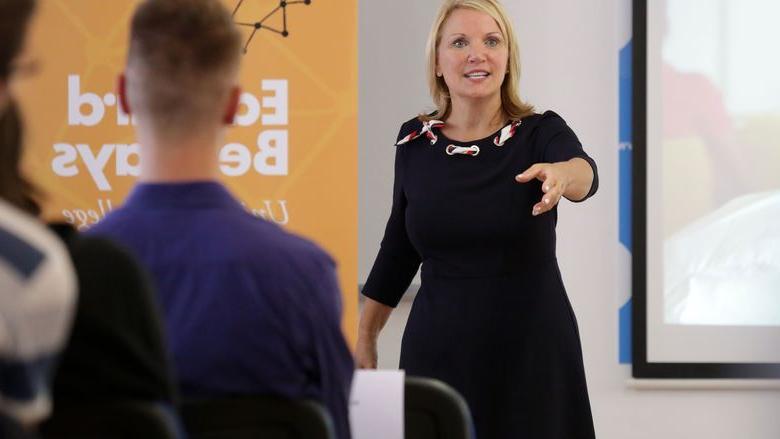
[[145,0],[130,29],[130,108],[159,135],[218,124],[240,59],[241,34],[219,0]]

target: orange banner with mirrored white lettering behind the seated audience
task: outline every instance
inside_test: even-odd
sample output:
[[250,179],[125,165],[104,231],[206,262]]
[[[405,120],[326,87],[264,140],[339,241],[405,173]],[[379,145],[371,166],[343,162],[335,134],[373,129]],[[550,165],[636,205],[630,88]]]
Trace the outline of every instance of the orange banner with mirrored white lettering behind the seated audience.
[[[25,169],[46,195],[47,219],[88,228],[122,204],[139,173],[132,121],[115,92],[137,3],[39,2],[30,51],[42,69],[19,91]],[[234,14],[246,24],[244,94],[219,152],[220,170],[247,209],[316,241],[338,261],[343,325],[353,342],[357,2],[287,3],[245,0]],[[225,4],[234,10],[239,0]]]

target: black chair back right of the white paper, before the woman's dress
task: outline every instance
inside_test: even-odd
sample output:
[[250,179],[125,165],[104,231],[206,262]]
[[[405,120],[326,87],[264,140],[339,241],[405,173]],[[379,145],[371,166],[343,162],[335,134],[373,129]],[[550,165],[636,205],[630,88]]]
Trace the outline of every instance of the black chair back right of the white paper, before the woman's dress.
[[410,376],[404,386],[404,432],[406,439],[474,437],[471,412],[455,389],[439,380]]

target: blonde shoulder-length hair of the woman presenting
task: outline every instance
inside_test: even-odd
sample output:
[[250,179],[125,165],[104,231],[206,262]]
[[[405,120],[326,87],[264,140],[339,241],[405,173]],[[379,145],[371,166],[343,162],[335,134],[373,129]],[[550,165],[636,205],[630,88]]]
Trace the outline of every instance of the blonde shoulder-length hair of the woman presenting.
[[484,12],[496,21],[509,49],[508,73],[501,84],[501,105],[504,112],[512,120],[519,120],[533,114],[533,106],[520,99],[520,50],[518,49],[517,36],[512,28],[512,22],[509,20],[504,7],[501,6],[498,0],[445,0],[431,27],[426,48],[428,88],[436,109],[431,114],[421,114],[420,119],[423,121],[432,119],[446,120],[452,111],[449,88],[443,77],[436,76],[436,60],[438,58],[439,43],[441,42],[441,28],[450,14],[452,14],[452,11],[456,9],[473,9]]

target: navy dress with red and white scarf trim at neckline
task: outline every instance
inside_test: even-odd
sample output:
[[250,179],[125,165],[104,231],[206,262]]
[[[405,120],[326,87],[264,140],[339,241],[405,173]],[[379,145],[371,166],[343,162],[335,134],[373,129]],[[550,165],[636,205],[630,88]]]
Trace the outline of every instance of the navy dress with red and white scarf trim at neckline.
[[551,111],[467,143],[437,126],[415,118],[401,127],[393,207],[363,294],[395,307],[422,264],[400,367],[457,389],[478,439],[592,439],[577,322],[555,257],[557,208],[532,216],[541,182],[514,177],[581,157],[593,167],[589,197],[596,165]]

